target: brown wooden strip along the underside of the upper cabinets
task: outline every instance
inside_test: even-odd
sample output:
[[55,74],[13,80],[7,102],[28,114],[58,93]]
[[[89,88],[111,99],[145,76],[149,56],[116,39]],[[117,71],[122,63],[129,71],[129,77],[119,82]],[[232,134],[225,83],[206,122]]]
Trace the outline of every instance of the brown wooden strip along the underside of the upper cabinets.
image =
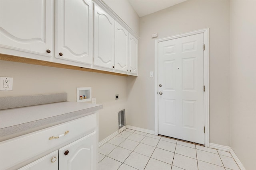
[[91,68],[83,68],[79,66],[71,66],[67,64],[59,64],[59,63],[53,63],[49,61],[41,61],[36,59],[29,59],[24,57],[18,57],[13,55],[6,55],[6,54],[0,54],[0,60],[4,61],[13,61],[18,63],[26,63],[26,64],[35,64],[35,65],[41,65],[41,66],[50,66],[50,67],[57,67],[57,68],[66,68],[71,70],[80,70],[80,71],[88,71],[88,72],[98,72],[103,74],[111,74],[116,76],[128,76],[126,74],[120,74],[116,72],[108,72],[108,71],[102,71],[102,70],[94,70]]

